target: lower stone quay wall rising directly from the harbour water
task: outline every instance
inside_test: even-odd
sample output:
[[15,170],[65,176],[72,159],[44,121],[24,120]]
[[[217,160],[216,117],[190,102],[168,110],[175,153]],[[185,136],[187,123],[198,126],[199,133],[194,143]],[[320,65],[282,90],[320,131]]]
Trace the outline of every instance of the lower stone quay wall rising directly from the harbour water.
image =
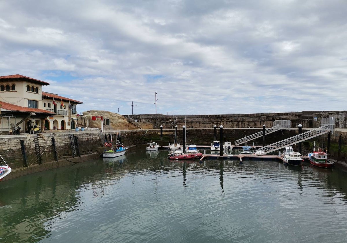
[[[242,137],[260,132],[259,128],[239,128],[239,129],[223,129],[223,137],[226,141],[234,142]],[[305,129],[303,128],[303,132]],[[274,133],[266,135],[265,144],[287,139],[291,136],[297,135],[297,129],[279,130]],[[35,146],[35,137],[33,135],[9,135],[2,137],[0,140],[0,154],[5,159],[7,164],[13,171],[5,177],[5,179],[14,178],[20,175],[30,174],[37,171],[57,168],[76,162],[95,159],[100,156],[104,150],[104,143],[116,141],[120,139],[124,145],[141,145],[149,141],[158,142],[160,145],[168,145],[174,142],[175,129],[163,129],[163,137],[160,137],[160,129],[150,130],[122,130],[122,131],[109,131],[109,132],[75,132],[72,133],[77,141],[76,148],[78,149],[79,156],[74,157],[73,149],[71,146],[70,136],[67,133],[42,133],[37,136],[39,145],[39,153],[37,146]],[[219,129],[217,129],[217,136],[219,138]],[[178,129],[178,141],[182,142],[183,130]],[[214,140],[214,129],[187,129],[187,143],[194,143],[197,145],[209,145]],[[219,140],[219,139],[218,139]],[[339,140],[341,140],[341,149],[339,151]],[[55,150],[53,149],[53,141]],[[327,135],[322,135],[315,139],[311,139],[304,143],[304,148],[310,151],[313,141],[327,146]],[[335,132],[331,136],[331,144],[329,157],[338,161],[346,162],[347,158],[347,133]],[[262,137],[248,142],[247,145],[263,145]],[[24,146],[23,146],[24,145]],[[25,156],[23,153],[25,152]],[[56,154],[54,153],[56,152]],[[305,154],[303,152],[303,154]],[[41,155],[41,156],[40,156]],[[18,172],[20,171],[20,172]]]

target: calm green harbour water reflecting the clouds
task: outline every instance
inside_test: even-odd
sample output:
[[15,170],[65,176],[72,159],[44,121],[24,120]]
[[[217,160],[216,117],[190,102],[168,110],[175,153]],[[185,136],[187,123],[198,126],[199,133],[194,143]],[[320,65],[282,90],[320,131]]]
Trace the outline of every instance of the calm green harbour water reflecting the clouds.
[[0,242],[346,242],[347,174],[128,151],[0,182]]

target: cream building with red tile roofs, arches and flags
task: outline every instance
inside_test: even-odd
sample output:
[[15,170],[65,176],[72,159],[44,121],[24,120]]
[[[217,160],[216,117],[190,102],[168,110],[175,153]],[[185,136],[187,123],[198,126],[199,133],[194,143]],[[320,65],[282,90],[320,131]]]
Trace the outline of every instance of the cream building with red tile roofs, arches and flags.
[[22,127],[22,132],[33,132],[35,127],[75,129],[76,105],[83,102],[43,92],[45,85],[49,83],[19,74],[0,76],[0,122],[5,117],[11,120],[2,133],[13,126]]

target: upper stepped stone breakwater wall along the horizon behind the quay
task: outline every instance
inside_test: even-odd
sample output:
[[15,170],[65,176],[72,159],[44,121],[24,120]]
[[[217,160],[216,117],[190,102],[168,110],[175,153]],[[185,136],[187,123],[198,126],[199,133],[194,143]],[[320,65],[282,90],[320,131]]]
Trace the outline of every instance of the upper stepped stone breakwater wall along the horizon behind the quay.
[[133,120],[153,124],[153,128],[211,128],[214,125],[224,128],[261,128],[272,127],[275,120],[290,120],[291,127],[301,124],[303,127],[319,127],[320,121],[325,117],[335,117],[336,128],[347,128],[347,111],[301,111],[255,114],[224,114],[224,115],[163,115],[139,114],[124,115]]

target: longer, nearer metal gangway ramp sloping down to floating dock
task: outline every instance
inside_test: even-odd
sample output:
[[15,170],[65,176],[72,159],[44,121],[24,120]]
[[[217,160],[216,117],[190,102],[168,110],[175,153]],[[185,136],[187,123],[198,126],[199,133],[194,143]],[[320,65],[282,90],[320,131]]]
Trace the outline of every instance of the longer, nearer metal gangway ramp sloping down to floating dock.
[[279,150],[281,148],[285,148],[287,146],[290,146],[290,145],[293,145],[296,143],[300,143],[300,142],[303,142],[305,140],[312,139],[314,137],[318,137],[318,136],[323,135],[325,133],[331,132],[331,134],[333,134],[334,129],[335,129],[335,118],[333,118],[333,117],[323,118],[321,120],[321,126],[320,127],[312,129],[308,132],[290,137],[289,139],[285,139],[285,140],[279,141],[277,143],[266,145],[266,146],[261,148],[264,151],[261,154],[270,153],[270,152]]

